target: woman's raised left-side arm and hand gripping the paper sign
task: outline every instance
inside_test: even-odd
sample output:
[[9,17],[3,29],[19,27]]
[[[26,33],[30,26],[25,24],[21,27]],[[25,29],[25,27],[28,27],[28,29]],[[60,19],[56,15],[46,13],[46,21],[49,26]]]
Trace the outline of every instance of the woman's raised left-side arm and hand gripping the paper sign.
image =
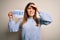
[[[14,18],[13,18],[13,13],[17,13],[17,12],[19,12],[19,13],[21,13],[20,11],[13,11],[13,12],[9,12],[8,13],[8,16],[9,16],[9,22],[8,22],[8,28],[9,28],[9,31],[10,32],[17,32],[17,31],[19,31],[19,25],[20,25],[20,19],[18,19],[17,21],[16,20],[14,20]],[[12,14],[12,15],[11,15]],[[10,16],[11,15],[11,16]]]

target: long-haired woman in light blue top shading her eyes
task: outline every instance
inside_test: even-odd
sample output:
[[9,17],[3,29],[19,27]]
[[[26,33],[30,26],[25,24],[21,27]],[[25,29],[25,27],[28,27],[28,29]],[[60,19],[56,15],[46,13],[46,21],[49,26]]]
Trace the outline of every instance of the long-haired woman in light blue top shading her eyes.
[[[40,19],[36,14],[40,13]],[[22,27],[22,40],[41,40],[40,27],[42,24],[48,25],[52,22],[51,17],[43,12],[39,12],[34,3],[28,3],[24,10],[24,18],[22,22],[17,23],[13,20],[12,12],[9,13],[9,29],[10,32],[17,32]]]

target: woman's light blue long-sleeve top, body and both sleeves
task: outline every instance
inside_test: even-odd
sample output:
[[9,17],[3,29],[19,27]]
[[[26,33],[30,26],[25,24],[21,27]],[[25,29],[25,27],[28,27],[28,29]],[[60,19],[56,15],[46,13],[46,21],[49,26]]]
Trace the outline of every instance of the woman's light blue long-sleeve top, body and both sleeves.
[[[40,12],[39,22],[40,25],[48,25],[52,22],[52,19],[48,14]],[[18,32],[20,23],[20,20],[16,24],[14,20],[9,20],[9,31]],[[36,26],[36,22],[33,18],[28,18],[27,22],[24,23],[22,27],[22,40],[41,40],[40,27]]]

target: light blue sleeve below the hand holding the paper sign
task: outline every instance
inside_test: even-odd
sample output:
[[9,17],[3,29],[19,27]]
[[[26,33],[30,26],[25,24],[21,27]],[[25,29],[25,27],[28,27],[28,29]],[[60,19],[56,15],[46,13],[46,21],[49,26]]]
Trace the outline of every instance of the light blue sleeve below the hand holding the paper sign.
[[19,25],[20,25],[20,20],[15,23],[14,20],[9,20],[8,22],[8,28],[10,32],[17,32],[19,31]]

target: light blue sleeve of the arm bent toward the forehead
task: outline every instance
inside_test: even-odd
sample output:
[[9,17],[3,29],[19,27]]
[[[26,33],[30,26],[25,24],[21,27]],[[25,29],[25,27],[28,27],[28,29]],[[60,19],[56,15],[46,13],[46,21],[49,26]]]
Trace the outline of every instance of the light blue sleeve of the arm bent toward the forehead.
[[44,12],[40,12],[40,24],[48,25],[52,22],[50,15]]

